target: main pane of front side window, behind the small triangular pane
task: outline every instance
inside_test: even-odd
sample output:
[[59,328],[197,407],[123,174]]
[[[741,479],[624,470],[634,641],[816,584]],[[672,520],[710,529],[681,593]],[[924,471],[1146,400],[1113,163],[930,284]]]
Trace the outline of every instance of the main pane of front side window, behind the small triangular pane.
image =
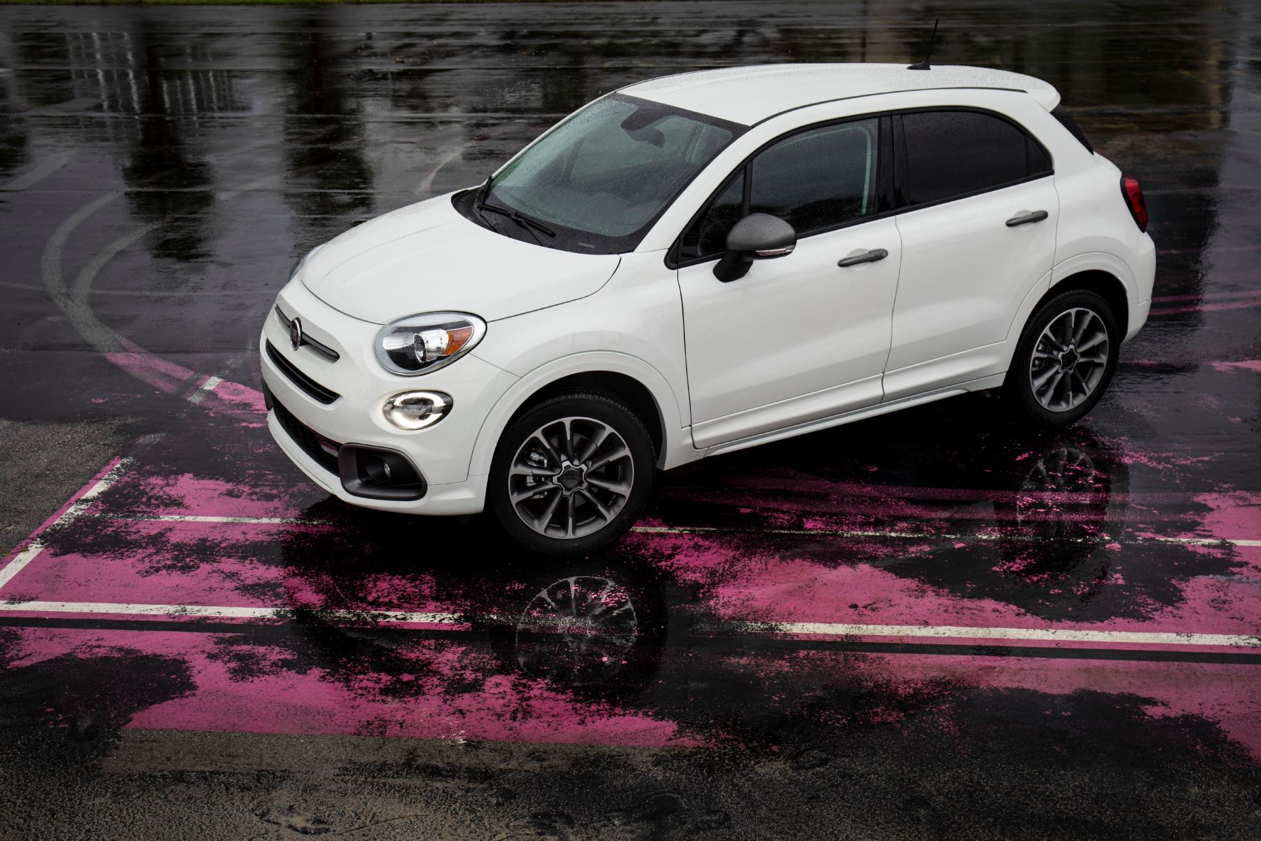
[[750,213],[787,221],[798,236],[875,212],[878,120],[811,129],[753,159]]

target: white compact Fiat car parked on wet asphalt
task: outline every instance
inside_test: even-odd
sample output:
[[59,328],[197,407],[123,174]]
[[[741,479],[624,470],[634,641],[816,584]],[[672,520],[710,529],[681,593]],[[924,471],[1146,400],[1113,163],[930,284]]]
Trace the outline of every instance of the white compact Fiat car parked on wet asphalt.
[[1148,318],[1155,248],[1058,105],[889,64],[603,96],[294,267],[261,339],[271,432],[346,502],[488,508],[575,554],[658,468],[980,390],[1072,422]]

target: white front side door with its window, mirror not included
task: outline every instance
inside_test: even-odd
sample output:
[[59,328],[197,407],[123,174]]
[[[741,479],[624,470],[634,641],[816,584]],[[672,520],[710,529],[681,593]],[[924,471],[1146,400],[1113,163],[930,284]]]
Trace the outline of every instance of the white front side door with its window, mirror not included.
[[[902,241],[893,217],[881,216],[880,124],[851,120],[786,135],[733,174],[680,240],[695,446],[883,398]],[[786,219],[797,247],[721,282],[714,264],[726,232],[753,212]],[[837,265],[852,257],[868,260]]]

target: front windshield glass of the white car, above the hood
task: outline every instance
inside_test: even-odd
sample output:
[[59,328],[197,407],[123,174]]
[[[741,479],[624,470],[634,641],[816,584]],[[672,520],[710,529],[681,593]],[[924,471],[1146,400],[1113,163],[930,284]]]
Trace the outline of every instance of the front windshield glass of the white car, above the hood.
[[518,155],[494,177],[484,200],[547,226],[556,236],[545,245],[630,251],[740,129],[658,102],[607,96]]

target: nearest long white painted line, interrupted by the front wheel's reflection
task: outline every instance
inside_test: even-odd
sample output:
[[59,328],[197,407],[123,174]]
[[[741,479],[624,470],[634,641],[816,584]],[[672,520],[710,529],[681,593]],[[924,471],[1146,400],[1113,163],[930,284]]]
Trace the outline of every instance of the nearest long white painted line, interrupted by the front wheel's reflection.
[[[115,604],[105,601],[4,601],[0,612],[52,614],[110,614],[134,617],[274,619],[303,613],[329,620],[371,620],[378,624],[468,625],[473,618],[487,622],[514,622],[513,618],[487,614],[421,613],[409,610],[295,610],[291,608],[223,608],[179,604]],[[825,622],[739,622],[719,620],[699,627],[702,632],[743,635],[811,637],[886,637],[908,639],[1014,639],[1042,642],[1112,643],[1126,646],[1200,646],[1212,648],[1261,648],[1261,637],[1247,634],[1202,634],[1149,630],[1083,630],[1068,628],[968,628],[965,625],[875,625]]]

